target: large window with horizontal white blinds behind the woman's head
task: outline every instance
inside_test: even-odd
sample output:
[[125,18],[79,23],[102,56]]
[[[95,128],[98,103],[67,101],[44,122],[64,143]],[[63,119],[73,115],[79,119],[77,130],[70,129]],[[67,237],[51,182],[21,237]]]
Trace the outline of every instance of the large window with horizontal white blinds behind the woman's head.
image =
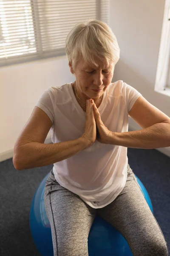
[[78,22],[108,23],[109,0],[0,0],[0,66],[65,55]]

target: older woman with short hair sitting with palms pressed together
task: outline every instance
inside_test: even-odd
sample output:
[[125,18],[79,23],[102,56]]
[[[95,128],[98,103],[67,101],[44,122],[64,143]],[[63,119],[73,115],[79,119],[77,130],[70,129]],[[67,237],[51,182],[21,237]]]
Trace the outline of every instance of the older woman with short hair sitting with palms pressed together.
[[[167,256],[127,148],[170,146],[170,118],[122,80],[111,82],[120,50],[107,24],[77,23],[66,53],[75,81],[45,90],[13,158],[18,170],[54,164],[45,184],[54,256],[88,256],[96,213],[119,230],[134,256]],[[142,130],[128,132],[128,116]],[[53,143],[44,144],[50,128]]]

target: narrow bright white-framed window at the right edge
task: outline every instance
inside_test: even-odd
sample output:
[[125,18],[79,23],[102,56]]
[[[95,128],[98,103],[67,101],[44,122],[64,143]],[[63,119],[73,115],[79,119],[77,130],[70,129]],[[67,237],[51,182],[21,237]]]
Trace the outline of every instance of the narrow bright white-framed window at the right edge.
[[170,0],[165,0],[155,91],[170,96]]

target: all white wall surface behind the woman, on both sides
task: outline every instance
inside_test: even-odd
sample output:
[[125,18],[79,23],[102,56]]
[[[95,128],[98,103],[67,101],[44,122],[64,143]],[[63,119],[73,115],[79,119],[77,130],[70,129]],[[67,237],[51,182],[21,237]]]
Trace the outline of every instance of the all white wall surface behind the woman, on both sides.
[[[113,81],[130,84],[170,116],[170,97],[154,91],[163,11],[164,0],[111,0],[110,26],[121,50]],[[13,156],[14,143],[41,94],[71,81],[66,56],[0,67],[0,161]],[[141,129],[132,119],[129,128]],[[170,155],[170,148],[160,150]]]

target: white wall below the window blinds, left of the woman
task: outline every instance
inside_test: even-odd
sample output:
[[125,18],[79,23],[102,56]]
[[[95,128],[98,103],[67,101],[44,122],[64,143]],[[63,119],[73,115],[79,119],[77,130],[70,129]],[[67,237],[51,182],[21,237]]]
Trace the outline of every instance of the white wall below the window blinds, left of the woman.
[[0,161],[13,157],[17,137],[42,93],[71,81],[66,56],[0,67]]

